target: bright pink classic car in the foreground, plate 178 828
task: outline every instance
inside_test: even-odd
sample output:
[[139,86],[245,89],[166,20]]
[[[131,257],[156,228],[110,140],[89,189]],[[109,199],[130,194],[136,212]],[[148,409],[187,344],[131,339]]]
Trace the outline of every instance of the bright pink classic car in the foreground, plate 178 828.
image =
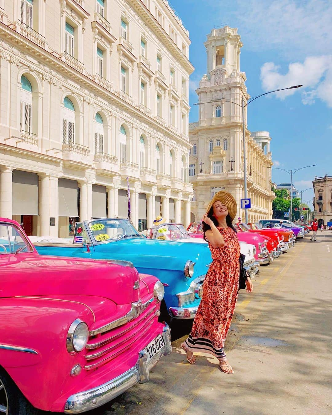
[[126,261],[41,256],[0,218],[0,413],[81,413],[171,353],[164,286]]

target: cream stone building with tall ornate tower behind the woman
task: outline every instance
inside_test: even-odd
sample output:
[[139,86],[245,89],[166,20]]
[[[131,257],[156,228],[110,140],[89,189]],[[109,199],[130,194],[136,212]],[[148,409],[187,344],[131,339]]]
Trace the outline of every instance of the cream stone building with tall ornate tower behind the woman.
[[[249,99],[246,76],[240,71],[242,42],[237,29],[212,29],[204,43],[207,74],[196,90],[199,120],[189,124],[192,145],[189,179],[193,183],[191,220],[200,220],[218,190],[232,193],[238,215],[244,220],[240,199],[244,197],[242,97]],[[247,107],[245,108],[247,126]],[[269,132],[250,133],[247,143],[247,186],[251,198],[249,221],[272,217],[271,152]]]

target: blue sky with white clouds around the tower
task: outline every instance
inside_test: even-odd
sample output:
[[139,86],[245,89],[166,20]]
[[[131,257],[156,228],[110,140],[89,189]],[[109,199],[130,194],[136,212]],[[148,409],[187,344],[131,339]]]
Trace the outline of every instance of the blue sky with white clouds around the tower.
[[[203,42],[213,27],[229,24],[238,28],[243,42],[240,65],[251,96],[304,85],[292,95],[271,94],[248,107],[249,129],[270,132],[274,166],[318,164],[293,175],[298,190],[312,188],[315,175],[332,175],[332,2],[171,0],[171,5],[192,42],[190,122],[198,120],[195,89],[206,72]],[[276,183],[290,182],[290,175],[281,170],[273,170],[272,178]],[[307,190],[303,200],[313,195]]]

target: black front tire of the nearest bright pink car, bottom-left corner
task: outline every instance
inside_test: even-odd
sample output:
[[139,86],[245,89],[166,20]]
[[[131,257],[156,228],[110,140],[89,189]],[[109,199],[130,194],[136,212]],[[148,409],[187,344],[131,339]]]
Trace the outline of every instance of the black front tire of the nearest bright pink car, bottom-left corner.
[[0,368],[0,406],[5,415],[37,415],[38,410],[24,397],[10,376]]

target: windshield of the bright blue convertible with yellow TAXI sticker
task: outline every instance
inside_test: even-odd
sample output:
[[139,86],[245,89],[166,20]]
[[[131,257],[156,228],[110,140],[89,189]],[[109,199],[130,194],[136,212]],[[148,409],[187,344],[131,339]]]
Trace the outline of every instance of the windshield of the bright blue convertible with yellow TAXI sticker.
[[96,219],[88,222],[87,226],[97,242],[115,241],[133,236],[143,238],[132,222],[125,219]]

